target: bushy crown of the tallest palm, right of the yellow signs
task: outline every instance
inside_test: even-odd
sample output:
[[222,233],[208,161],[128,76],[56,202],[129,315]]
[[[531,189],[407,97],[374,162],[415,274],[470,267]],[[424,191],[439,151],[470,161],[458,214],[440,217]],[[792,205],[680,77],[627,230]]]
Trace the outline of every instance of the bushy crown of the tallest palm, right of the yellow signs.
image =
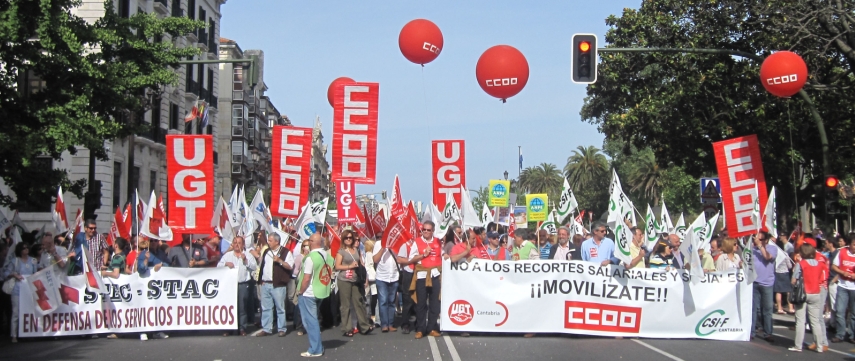
[[583,146],[573,150],[567,158],[564,174],[573,189],[592,189],[609,181],[609,161],[597,147]]

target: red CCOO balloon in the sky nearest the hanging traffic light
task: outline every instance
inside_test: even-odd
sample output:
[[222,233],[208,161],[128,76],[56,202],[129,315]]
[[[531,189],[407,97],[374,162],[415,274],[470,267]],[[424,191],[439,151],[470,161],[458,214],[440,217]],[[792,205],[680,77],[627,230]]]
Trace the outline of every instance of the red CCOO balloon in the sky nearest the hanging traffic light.
[[475,77],[487,94],[505,101],[517,95],[528,82],[528,61],[514,47],[496,45],[478,58]]

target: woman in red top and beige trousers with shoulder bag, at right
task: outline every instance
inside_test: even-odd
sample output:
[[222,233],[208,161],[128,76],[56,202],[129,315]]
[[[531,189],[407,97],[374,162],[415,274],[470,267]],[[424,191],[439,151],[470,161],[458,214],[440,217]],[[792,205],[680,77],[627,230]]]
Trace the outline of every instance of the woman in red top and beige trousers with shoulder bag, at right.
[[790,351],[802,352],[805,339],[805,313],[807,313],[815,341],[813,348],[817,352],[823,352],[827,348],[824,346],[816,347],[816,345],[827,343],[825,341],[825,327],[820,322],[820,318],[822,317],[822,307],[825,304],[825,300],[822,299],[822,285],[828,279],[828,265],[816,260],[816,248],[810,244],[802,244],[799,253],[802,259],[793,269],[791,284],[795,284],[796,280],[801,278],[807,300],[796,305],[796,343],[790,347]]

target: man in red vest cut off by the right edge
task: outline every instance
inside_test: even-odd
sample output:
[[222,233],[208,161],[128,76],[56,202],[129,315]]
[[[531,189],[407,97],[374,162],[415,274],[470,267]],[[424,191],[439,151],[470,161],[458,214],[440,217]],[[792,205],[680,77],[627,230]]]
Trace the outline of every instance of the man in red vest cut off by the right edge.
[[[831,263],[831,270],[837,273],[840,280],[837,284],[837,299],[835,318],[837,327],[836,334],[831,342],[837,343],[846,339],[846,334],[850,336],[850,340],[855,339],[853,332],[849,326],[855,322],[855,237],[849,239],[849,247],[840,248],[837,252],[837,257]],[[850,315],[846,317],[846,312]]]

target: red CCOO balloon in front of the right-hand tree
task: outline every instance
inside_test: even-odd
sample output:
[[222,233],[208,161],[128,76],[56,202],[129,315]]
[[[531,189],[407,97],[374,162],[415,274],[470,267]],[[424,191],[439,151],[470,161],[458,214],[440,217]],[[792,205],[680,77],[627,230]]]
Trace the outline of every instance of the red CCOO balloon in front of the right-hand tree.
[[779,51],[763,60],[760,81],[766,91],[782,98],[791,97],[807,82],[807,65],[798,54]]

